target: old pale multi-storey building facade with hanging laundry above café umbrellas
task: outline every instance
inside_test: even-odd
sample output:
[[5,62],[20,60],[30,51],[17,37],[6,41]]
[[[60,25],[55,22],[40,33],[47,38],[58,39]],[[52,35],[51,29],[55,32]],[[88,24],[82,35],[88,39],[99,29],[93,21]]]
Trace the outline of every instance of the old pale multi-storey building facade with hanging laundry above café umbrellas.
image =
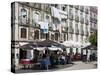
[[[59,43],[73,41],[83,46],[97,29],[97,7],[94,6],[15,2],[11,12],[15,69],[19,68],[19,47],[24,44],[50,39]],[[81,53],[81,48],[72,50]]]

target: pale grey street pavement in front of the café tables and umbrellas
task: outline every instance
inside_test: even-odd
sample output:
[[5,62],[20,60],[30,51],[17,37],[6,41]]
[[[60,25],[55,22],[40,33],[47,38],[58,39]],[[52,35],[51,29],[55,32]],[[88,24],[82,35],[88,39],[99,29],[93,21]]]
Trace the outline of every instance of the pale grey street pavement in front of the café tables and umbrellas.
[[74,64],[58,65],[56,69],[49,70],[18,70],[17,73],[29,73],[29,72],[48,72],[48,71],[68,71],[68,70],[82,70],[82,69],[96,69],[96,62],[73,62]]

